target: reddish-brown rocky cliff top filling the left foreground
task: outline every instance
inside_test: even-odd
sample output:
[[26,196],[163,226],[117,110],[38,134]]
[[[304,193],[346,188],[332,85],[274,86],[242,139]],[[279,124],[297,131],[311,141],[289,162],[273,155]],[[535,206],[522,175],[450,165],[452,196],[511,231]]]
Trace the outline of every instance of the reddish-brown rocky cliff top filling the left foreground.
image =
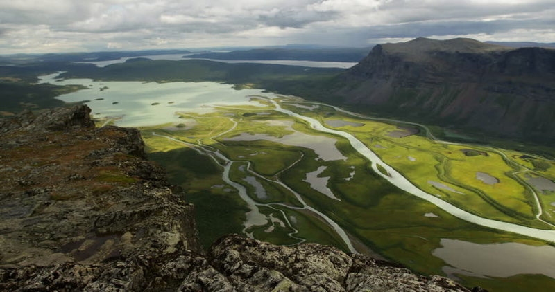
[[139,131],[94,129],[89,112],[1,122],[0,290],[143,290],[155,266],[202,253],[194,207],[145,161]]

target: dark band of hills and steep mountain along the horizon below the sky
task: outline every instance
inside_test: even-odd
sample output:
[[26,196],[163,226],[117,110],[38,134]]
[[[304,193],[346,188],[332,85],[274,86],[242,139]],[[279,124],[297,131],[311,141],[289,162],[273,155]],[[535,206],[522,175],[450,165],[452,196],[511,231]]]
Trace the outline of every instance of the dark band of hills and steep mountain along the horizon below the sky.
[[[511,45],[527,44],[535,43]],[[257,48],[187,56],[358,62],[346,71],[203,60],[139,59],[105,68],[72,63],[161,51],[19,55],[9,57],[10,65],[19,66],[0,66],[0,77],[33,82],[39,74],[67,71],[65,77],[102,80],[217,81],[238,88],[248,84],[377,116],[463,129],[484,134],[484,138],[502,136],[543,145],[555,143],[555,49],[514,48],[474,39],[418,38],[380,44],[368,51],[370,48]],[[185,55],[187,51],[163,53]],[[12,91],[19,93],[20,88]]]

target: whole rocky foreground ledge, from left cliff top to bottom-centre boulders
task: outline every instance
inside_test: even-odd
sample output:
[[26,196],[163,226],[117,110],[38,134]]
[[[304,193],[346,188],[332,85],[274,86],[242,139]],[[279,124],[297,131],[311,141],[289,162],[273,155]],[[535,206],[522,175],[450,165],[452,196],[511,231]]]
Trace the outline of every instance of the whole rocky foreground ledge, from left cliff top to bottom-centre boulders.
[[139,132],[89,112],[0,122],[0,291],[469,291],[318,244],[228,235],[205,254]]

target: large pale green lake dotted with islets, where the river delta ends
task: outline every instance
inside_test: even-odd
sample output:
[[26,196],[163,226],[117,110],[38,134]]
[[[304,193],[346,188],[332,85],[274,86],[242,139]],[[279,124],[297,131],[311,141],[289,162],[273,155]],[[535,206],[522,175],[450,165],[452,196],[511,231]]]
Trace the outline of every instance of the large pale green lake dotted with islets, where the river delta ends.
[[[41,83],[80,84],[89,89],[58,96],[65,102],[90,100],[94,118],[117,118],[121,127],[144,127],[182,122],[176,111],[209,113],[216,104],[262,106],[248,95],[267,95],[259,89],[234,90],[230,84],[216,82],[125,82],[90,79],[56,80],[58,73],[40,77]],[[103,89],[108,87],[108,89]],[[103,90],[101,90],[103,89]],[[114,104],[117,102],[117,104]],[[170,103],[171,102],[171,103]],[[155,105],[153,105],[155,104]]]

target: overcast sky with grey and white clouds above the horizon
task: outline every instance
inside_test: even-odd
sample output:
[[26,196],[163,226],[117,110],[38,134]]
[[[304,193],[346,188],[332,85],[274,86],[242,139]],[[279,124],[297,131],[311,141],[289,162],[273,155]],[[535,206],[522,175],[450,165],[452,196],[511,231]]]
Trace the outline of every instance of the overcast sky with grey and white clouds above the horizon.
[[0,0],[0,54],[420,36],[555,42],[555,0]]

